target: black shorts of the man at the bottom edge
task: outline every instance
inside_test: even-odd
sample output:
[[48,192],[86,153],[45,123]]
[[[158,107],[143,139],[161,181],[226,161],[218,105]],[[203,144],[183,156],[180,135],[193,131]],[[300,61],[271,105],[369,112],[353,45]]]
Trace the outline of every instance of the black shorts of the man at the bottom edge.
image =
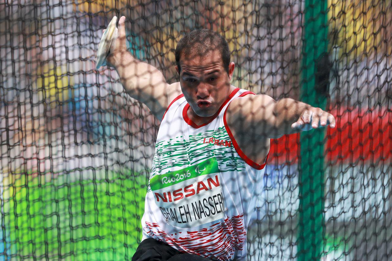
[[167,243],[147,238],[140,243],[132,257],[132,261],[209,261],[205,257],[184,254]]

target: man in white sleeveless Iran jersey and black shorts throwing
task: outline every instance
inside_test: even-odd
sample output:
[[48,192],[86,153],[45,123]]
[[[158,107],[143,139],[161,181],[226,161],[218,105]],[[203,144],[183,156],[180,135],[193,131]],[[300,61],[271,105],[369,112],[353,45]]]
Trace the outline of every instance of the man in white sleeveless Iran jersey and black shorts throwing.
[[107,64],[127,93],[161,120],[132,260],[244,260],[270,139],[335,127],[334,116],[292,99],[275,101],[230,85],[226,40],[195,30],[178,42],[180,82],[127,51],[125,17]]

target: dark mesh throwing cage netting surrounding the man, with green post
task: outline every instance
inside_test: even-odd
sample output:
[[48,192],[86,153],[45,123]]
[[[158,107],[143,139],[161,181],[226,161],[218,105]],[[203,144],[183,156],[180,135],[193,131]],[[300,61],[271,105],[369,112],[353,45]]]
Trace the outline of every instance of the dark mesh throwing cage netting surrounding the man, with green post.
[[272,140],[248,260],[392,258],[392,4],[316,1],[3,1],[1,259],[131,259],[160,122],[95,70],[102,29],[168,83],[177,42],[214,29],[232,84],[332,113],[335,129]]

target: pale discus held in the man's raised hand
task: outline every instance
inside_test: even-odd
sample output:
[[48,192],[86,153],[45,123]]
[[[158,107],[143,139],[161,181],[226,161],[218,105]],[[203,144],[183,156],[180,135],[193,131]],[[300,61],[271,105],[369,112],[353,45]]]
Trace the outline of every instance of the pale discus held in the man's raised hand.
[[110,47],[117,34],[116,23],[117,16],[113,16],[109,25],[107,25],[106,30],[102,34],[101,41],[98,45],[96,69],[99,69],[99,67],[106,65],[106,56],[107,54],[109,54]]

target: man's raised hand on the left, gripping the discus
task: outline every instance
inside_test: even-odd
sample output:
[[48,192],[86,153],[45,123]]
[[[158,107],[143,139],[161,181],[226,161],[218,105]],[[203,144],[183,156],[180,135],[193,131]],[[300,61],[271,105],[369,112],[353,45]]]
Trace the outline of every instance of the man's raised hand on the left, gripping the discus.
[[116,28],[115,38],[110,47],[110,52],[106,57],[106,65],[109,67],[118,67],[123,65],[125,56],[131,55],[127,50],[127,40],[125,34],[125,16],[121,16]]

